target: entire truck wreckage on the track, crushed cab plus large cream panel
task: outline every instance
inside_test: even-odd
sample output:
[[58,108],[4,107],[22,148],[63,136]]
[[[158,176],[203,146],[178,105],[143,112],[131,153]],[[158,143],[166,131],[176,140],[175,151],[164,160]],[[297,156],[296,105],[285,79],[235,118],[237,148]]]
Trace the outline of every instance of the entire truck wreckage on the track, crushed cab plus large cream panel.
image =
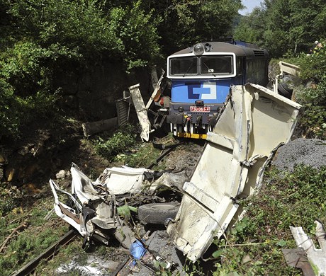
[[149,235],[135,231],[138,222],[167,226],[174,246],[196,261],[240,217],[241,200],[259,188],[276,149],[290,140],[300,108],[256,84],[232,86],[190,179],[186,171],[122,167],[92,181],[73,164],[71,193],[50,180],[55,212],[84,237],[84,248],[108,245],[114,236],[130,251],[126,270],[137,271],[140,262],[153,271],[175,267],[149,250]]

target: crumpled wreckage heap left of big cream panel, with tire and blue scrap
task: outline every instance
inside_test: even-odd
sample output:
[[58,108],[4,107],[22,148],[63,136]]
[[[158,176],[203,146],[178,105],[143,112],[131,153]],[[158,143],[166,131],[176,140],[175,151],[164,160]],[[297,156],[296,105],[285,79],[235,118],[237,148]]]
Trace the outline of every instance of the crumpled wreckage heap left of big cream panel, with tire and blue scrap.
[[[164,269],[172,269],[172,260],[148,250],[155,235],[146,233],[144,225],[163,225],[174,219],[181,200],[180,187],[187,179],[184,172],[113,167],[92,181],[74,163],[70,171],[71,193],[61,190],[54,180],[50,180],[50,187],[56,214],[84,237],[85,250],[96,242],[108,246],[116,238],[130,251],[125,270],[137,272],[140,262],[153,271],[161,270],[155,267],[157,262]],[[62,200],[62,195],[67,201]]]

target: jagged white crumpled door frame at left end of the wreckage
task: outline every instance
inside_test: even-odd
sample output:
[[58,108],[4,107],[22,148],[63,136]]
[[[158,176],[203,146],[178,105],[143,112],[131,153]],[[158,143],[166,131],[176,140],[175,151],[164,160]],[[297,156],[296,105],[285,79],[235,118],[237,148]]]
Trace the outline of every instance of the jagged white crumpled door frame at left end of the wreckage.
[[[55,197],[55,213],[77,229],[81,236],[89,238],[96,235],[98,240],[106,243],[106,235],[97,228],[116,229],[122,224],[114,211],[116,208],[114,197],[109,196],[104,199],[101,190],[96,190],[92,181],[74,163],[70,171],[72,173],[71,194],[61,190],[53,180],[49,181]],[[67,195],[72,206],[61,202],[58,192]]]

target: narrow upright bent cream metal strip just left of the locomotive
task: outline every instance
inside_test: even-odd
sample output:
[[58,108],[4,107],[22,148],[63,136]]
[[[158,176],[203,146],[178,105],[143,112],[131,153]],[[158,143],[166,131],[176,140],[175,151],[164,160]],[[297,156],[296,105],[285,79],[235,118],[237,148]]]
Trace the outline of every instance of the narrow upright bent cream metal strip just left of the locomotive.
[[150,139],[150,120],[148,119],[147,109],[145,107],[144,100],[142,100],[142,94],[140,93],[140,84],[129,87],[131,98],[133,99],[133,104],[135,105],[135,110],[137,113],[140,126],[142,127],[142,132],[140,133],[140,138],[142,141],[148,142]]

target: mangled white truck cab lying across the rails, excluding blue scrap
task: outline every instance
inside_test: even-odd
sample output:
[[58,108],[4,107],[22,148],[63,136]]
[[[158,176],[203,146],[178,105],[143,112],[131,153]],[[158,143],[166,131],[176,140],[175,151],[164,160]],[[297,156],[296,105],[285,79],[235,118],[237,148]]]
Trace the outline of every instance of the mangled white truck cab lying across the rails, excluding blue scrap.
[[[157,198],[156,192],[160,187],[178,189],[186,179],[185,173],[157,173],[146,168],[123,166],[106,168],[93,182],[74,163],[70,171],[71,193],[61,190],[55,181],[49,182],[55,197],[55,213],[84,237],[83,247],[94,239],[108,245],[110,238],[115,236],[125,248],[129,248],[135,241],[133,230],[128,226],[130,211],[137,212],[143,200]],[[60,194],[65,195],[69,203],[62,202]],[[140,214],[147,223],[146,219],[152,218],[153,214],[146,207],[144,209]],[[174,206],[173,214],[164,214],[174,219],[176,212]],[[154,223],[164,224],[164,221]]]

